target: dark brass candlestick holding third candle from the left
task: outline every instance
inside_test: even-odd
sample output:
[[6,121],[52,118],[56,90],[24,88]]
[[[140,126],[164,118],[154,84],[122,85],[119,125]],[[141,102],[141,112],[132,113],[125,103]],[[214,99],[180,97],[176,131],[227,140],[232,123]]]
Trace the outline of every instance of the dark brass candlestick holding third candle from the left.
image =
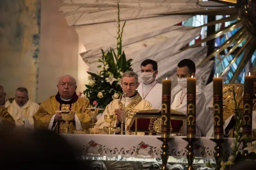
[[221,168],[221,158],[222,158],[222,143],[224,143],[225,139],[219,138],[219,139],[211,139],[211,141],[214,141],[216,143],[216,146],[214,147],[214,150],[216,151],[214,153],[215,161],[216,161],[216,167],[215,170],[220,170]]

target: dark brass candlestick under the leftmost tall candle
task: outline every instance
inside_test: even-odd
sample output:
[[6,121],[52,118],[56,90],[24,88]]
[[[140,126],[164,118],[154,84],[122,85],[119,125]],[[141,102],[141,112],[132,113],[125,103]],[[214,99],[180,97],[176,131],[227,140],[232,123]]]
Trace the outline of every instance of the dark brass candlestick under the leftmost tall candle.
[[162,158],[162,166],[161,166],[161,170],[165,170],[168,169],[167,168],[167,161],[168,161],[168,157],[169,157],[169,146],[168,146],[168,142],[173,140],[173,137],[157,137],[157,139],[159,139],[160,141],[163,142],[163,144],[161,145],[161,149],[163,150],[161,153],[161,158]]

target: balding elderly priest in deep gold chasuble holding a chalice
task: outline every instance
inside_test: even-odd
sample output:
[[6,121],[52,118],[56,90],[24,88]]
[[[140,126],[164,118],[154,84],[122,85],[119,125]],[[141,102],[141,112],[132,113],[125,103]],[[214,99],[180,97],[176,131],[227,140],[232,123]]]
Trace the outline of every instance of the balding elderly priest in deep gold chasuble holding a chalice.
[[63,133],[65,132],[65,121],[62,120],[60,111],[74,111],[74,120],[68,121],[68,133],[85,129],[83,123],[88,123],[91,120],[88,115],[90,110],[86,109],[90,107],[90,102],[88,99],[76,95],[76,79],[70,75],[64,75],[59,79],[57,87],[57,95],[42,102],[33,116],[34,128]]

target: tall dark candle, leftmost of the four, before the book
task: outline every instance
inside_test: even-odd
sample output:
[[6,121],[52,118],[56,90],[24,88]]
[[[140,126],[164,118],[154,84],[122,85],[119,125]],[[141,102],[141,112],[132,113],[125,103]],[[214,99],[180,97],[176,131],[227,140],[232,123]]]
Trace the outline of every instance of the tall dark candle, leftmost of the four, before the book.
[[162,92],[162,125],[161,125],[161,137],[170,137],[170,116],[171,116],[171,90],[172,81],[167,78],[163,81]]

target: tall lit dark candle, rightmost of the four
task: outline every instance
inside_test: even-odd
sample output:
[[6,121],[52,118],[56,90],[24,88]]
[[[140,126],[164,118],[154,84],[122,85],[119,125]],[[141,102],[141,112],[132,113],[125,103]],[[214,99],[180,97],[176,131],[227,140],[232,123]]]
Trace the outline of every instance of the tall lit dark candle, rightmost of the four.
[[252,136],[253,76],[244,76],[243,135]]

